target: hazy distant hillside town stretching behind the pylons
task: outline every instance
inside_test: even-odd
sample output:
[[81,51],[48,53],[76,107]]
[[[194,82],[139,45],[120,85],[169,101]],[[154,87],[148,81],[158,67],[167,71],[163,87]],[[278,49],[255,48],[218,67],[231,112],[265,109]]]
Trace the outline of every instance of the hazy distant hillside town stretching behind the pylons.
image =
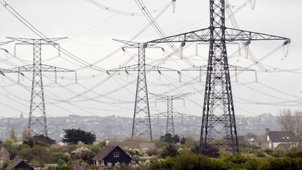
[[[199,139],[201,128],[201,117],[196,118],[174,118],[175,134],[179,136],[191,136]],[[278,130],[277,116],[271,113],[264,113],[258,116],[238,116],[236,124],[239,135],[245,135],[248,132],[261,136],[264,129],[270,127]],[[48,136],[55,141],[61,141],[64,136],[63,129],[81,128],[96,134],[96,139],[123,140],[131,136],[133,118],[117,117],[110,115],[106,117],[97,116],[79,116],[69,115],[68,117],[49,117],[48,118]],[[21,139],[22,130],[28,125],[28,118],[1,118],[0,119],[0,139],[6,139],[10,136],[10,129],[15,129],[17,137]],[[154,139],[165,134],[166,118],[152,118],[152,133]]]

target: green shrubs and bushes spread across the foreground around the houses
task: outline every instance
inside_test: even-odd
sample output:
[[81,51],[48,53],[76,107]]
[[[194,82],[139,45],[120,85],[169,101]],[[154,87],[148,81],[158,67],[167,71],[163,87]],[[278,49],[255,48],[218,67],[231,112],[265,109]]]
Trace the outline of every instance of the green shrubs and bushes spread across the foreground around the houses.
[[[10,160],[20,157],[34,162],[37,167],[52,164],[48,169],[73,169],[71,165],[76,161],[85,162],[89,169],[97,169],[92,157],[103,150],[105,143],[95,142],[95,136],[91,132],[80,129],[65,132],[64,141],[69,141],[67,146],[57,145],[45,136],[30,136],[26,131],[22,141],[17,141],[12,135],[10,139],[3,141],[3,146],[10,153]],[[82,142],[81,136],[88,137]],[[131,164],[109,164],[107,169],[302,169],[302,151],[299,148],[261,150],[259,146],[241,143],[240,154],[230,155],[217,150],[206,156],[196,154],[198,143],[190,137],[166,134],[154,143],[157,150],[123,148],[132,158]],[[11,162],[13,161],[6,162],[4,167]]]

